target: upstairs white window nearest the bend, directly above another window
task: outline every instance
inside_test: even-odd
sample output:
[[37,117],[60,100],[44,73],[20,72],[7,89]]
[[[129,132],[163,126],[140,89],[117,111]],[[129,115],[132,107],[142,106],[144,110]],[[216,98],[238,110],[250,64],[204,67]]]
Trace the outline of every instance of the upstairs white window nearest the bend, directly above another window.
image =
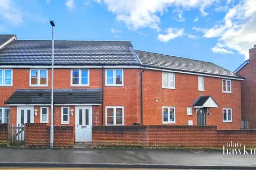
[[124,86],[123,69],[107,69],[106,86]]

